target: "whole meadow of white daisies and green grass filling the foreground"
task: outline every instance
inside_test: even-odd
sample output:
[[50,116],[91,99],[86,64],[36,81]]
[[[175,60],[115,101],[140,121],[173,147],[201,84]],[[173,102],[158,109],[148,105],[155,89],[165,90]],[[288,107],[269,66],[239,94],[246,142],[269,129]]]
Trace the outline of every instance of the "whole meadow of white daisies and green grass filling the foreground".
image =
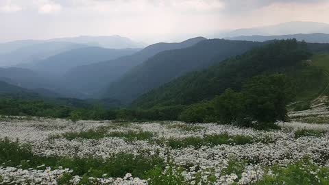
[[329,184],[329,124],[277,124],[1,117],[0,184]]

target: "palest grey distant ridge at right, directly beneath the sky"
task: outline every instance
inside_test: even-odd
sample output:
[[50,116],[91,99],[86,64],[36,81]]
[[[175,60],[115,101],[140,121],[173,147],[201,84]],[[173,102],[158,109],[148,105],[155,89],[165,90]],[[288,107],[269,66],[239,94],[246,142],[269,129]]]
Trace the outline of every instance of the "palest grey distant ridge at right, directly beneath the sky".
[[221,38],[235,37],[235,36],[275,36],[287,34],[312,34],[324,33],[329,34],[329,24],[306,22],[306,21],[293,21],[288,23],[280,23],[278,25],[269,25],[264,27],[252,27],[244,29],[236,29],[230,32],[219,34]]

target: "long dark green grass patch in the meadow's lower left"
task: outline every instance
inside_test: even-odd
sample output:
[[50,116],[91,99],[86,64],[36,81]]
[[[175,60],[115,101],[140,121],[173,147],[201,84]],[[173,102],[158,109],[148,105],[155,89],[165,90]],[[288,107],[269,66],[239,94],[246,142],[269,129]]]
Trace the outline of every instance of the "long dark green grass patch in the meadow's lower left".
[[[72,158],[66,157],[42,157],[35,156],[31,147],[11,142],[8,139],[0,139],[0,164],[3,167],[15,167],[21,165],[22,169],[29,169],[45,164],[45,167],[58,169],[64,167],[73,169],[71,175],[84,177],[123,177],[126,173],[132,173],[134,177],[145,177],[147,171],[158,167],[164,168],[163,160],[157,155],[134,156],[131,153],[117,153],[109,158]],[[45,168],[44,167],[44,168]]]

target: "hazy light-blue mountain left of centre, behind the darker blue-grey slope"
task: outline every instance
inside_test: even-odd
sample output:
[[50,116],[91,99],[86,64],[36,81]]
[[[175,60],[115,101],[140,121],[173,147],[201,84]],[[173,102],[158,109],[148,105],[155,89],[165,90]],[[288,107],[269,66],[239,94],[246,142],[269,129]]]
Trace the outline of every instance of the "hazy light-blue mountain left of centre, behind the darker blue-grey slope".
[[121,56],[129,56],[140,49],[104,49],[101,47],[84,47],[64,51],[44,60],[37,60],[21,67],[34,71],[47,72],[52,75],[62,75],[75,66],[93,64],[105,60],[113,60]]

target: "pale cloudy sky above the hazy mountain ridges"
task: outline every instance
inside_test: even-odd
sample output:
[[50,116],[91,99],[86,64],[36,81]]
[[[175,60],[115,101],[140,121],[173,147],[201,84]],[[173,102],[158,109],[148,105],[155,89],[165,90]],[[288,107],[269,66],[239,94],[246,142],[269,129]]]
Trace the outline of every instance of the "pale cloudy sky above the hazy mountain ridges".
[[80,35],[172,41],[287,21],[329,23],[329,0],[0,0],[0,42]]

